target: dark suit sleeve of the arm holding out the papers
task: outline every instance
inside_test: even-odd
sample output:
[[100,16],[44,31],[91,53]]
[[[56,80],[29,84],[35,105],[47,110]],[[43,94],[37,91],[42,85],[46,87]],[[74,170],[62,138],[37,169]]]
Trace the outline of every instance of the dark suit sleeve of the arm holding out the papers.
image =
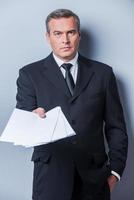
[[17,79],[16,108],[32,111],[37,108],[36,92],[26,70],[20,69]]

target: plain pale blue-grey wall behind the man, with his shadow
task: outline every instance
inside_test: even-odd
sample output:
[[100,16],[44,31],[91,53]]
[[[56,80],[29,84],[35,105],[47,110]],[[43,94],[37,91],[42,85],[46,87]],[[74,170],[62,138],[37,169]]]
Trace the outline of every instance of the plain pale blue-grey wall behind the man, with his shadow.
[[[80,16],[80,51],[111,65],[116,74],[127,121],[129,154],[124,176],[112,199],[133,200],[133,0],[0,0],[0,133],[16,104],[19,68],[50,52],[44,38],[45,18],[57,8],[72,9]],[[31,154],[32,148],[0,143],[0,200],[31,200]]]

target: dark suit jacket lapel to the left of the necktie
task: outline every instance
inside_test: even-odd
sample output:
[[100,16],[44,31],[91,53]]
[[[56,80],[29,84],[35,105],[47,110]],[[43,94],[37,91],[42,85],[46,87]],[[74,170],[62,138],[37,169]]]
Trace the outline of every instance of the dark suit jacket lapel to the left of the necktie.
[[62,72],[61,72],[59,66],[55,62],[52,54],[50,54],[45,59],[44,69],[45,69],[44,70],[44,74],[45,74],[46,78],[48,78],[49,81],[51,81],[53,83],[53,85],[55,87],[57,87],[57,89],[59,89],[65,95],[70,97],[70,92],[69,92],[69,90],[67,88],[65,79],[64,79],[64,77],[62,75]]

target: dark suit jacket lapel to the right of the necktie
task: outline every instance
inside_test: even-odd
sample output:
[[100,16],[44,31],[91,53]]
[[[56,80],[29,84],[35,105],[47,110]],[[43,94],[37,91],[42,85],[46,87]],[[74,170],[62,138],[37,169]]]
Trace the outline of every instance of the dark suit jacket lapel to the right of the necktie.
[[70,99],[70,101],[73,101],[76,99],[81,92],[84,90],[84,88],[87,86],[87,84],[90,82],[94,75],[94,71],[92,71],[91,67],[92,63],[86,61],[84,57],[79,55],[78,58],[78,76],[76,81],[76,86],[74,89],[74,95]]

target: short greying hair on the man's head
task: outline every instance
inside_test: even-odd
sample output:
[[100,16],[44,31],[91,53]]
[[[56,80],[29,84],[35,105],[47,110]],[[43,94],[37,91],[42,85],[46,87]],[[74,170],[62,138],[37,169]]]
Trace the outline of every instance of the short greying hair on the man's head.
[[78,32],[80,33],[80,19],[74,12],[68,9],[57,9],[51,12],[46,18],[46,31],[50,33],[49,22],[51,21],[51,19],[60,19],[62,17],[74,17],[77,24]]

